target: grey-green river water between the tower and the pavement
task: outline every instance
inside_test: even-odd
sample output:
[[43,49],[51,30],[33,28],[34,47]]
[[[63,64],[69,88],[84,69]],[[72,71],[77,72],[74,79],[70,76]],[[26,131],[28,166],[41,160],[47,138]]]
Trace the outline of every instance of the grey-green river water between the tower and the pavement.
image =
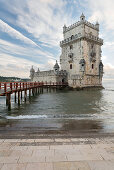
[[103,80],[105,89],[44,91],[7,111],[0,97],[1,134],[114,133],[114,80]]

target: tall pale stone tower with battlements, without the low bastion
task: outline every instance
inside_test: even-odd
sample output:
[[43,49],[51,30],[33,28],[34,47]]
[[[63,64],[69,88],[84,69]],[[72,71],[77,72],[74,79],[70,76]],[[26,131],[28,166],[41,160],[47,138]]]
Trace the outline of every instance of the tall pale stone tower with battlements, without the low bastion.
[[99,23],[95,25],[86,21],[84,14],[80,21],[63,27],[64,40],[60,42],[61,69],[68,73],[71,87],[102,86],[103,64],[99,38]]

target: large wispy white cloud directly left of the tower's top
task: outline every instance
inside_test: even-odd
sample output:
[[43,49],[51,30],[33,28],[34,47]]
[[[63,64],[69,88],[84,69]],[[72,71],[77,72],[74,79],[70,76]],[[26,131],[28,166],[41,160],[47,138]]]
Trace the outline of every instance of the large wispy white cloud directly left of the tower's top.
[[[4,2],[10,13],[16,15],[16,24],[25,29],[38,41],[59,46],[62,27],[69,23],[71,13],[66,11],[63,0],[9,0]],[[20,5],[23,4],[23,5]],[[15,23],[14,23],[15,24]]]

